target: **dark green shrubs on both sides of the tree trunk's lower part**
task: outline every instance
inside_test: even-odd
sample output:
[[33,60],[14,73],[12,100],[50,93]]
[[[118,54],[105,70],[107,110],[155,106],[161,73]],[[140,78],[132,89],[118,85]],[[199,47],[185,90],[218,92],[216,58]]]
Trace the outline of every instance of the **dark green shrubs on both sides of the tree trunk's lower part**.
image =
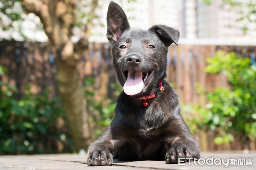
[[[0,66],[0,76],[8,69]],[[111,84],[113,99],[98,97],[94,77],[84,80],[84,94],[96,137],[111,123],[116,98],[122,91],[119,84]],[[35,95],[29,92],[16,99],[18,89],[0,81],[0,155],[73,152],[64,108],[58,97],[50,99],[49,91]]]

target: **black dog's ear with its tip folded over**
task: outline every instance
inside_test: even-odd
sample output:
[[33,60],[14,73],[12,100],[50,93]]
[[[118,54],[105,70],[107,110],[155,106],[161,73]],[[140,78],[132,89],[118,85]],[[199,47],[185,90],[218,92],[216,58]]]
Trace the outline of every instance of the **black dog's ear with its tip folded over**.
[[178,45],[178,40],[180,38],[180,32],[172,27],[155,25],[149,28],[149,31],[154,31],[160,40],[169,47],[172,42]]

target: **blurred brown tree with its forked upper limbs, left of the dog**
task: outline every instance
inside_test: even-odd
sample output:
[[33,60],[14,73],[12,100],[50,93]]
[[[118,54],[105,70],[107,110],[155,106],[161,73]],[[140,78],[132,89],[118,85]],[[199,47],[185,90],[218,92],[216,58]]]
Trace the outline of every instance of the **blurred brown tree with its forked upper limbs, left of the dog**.
[[[94,1],[97,5],[97,0]],[[23,7],[27,13],[38,15],[49,41],[57,49],[58,70],[55,78],[64,102],[70,133],[76,150],[87,149],[92,142],[92,135],[76,64],[88,43],[84,38],[76,45],[71,41],[76,22],[76,0],[23,0]]]

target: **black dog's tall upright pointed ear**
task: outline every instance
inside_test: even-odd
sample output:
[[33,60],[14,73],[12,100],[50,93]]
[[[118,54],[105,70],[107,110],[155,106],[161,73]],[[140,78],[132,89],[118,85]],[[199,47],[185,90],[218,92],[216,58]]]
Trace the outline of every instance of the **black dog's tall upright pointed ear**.
[[107,29],[107,38],[111,45],[117,42],[125,30],[130,29],[125,12],[113,1],[108,6]]

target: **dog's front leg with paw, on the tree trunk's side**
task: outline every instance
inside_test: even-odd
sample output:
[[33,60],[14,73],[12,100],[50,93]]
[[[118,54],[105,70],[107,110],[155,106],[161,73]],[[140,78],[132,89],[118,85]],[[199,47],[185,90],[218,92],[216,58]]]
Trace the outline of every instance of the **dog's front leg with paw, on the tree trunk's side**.
[[112,141],[110,126],[102,133],[102,135],[93,142],[89,147],[89,154],[87,157],[87,165],[102,166],[112,165],[114,143]]

